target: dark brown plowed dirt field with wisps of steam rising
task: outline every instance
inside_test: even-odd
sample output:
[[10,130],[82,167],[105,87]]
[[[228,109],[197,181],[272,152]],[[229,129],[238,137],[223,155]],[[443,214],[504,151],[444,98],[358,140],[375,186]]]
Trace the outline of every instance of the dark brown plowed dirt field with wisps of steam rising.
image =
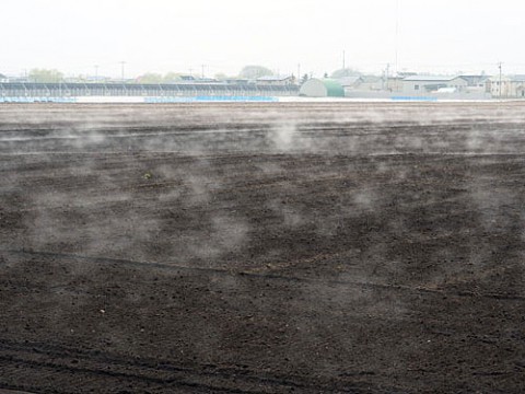
[[4,105],[0,171],[0,389],[525,391],[525,104]]

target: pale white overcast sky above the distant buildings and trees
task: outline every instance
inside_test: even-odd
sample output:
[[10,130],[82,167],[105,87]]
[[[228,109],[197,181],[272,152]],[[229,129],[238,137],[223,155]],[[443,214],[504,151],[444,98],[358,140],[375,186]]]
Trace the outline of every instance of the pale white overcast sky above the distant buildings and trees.
[[[525,73],[525,2],[467,0],[2,0],[0,72]],[[397,32],[397,33],[396,33]],[[397,50],[396,50],[397,48]],[[397,54],[397,56],[396,56]]]

